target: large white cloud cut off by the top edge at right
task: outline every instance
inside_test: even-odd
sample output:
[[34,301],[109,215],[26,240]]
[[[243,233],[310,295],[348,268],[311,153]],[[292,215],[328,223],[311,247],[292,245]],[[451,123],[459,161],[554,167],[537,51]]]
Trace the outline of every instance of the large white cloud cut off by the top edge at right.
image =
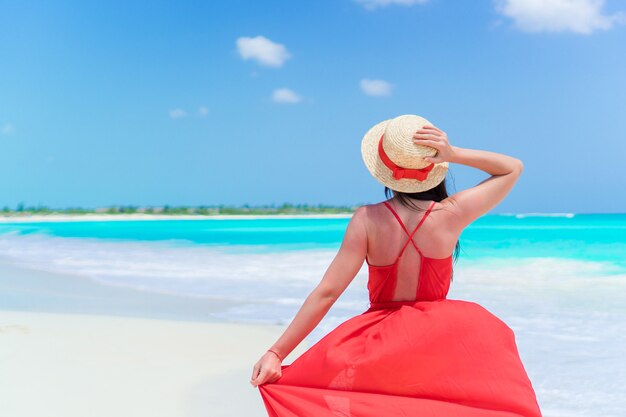
[[524,32],[590,34],[623,23],[623,13],[603,14],[604,0],[496,0],[498,13]]

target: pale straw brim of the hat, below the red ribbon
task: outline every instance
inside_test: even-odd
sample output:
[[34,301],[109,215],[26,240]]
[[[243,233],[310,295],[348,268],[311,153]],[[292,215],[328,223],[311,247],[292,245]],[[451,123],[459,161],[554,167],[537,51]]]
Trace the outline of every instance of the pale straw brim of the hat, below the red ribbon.
[[392,172],[378,156],[378,141],[392,119],[384,120],[367,131],[361,141],[361,156],[372,176],[382,185],[395,191],[417,193],[430,190],[443,181],[448,172],[448,162],[436,163],[424,181],[412,178],[395,179]]

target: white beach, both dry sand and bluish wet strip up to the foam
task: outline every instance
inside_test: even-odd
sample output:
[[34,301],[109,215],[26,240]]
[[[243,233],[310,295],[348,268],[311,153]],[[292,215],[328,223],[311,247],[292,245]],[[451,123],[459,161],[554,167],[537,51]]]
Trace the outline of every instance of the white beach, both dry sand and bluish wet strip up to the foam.
[[0,416],[266,416],[249,380],[286,326],[212,318],[233,305],[0,257]]

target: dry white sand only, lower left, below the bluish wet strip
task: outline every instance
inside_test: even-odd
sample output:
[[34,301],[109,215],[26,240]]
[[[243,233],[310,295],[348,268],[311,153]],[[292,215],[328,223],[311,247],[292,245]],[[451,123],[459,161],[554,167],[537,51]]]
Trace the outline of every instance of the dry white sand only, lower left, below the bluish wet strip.
[[283,330],[0,310],[0,414],[262,417],[248,381]]

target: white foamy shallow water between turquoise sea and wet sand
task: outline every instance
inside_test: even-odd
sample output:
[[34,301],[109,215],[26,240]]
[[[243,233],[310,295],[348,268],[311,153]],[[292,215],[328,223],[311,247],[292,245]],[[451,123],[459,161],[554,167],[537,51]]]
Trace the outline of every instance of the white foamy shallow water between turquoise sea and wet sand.
[[[144,292],[230,300],[232,306],[212,316],[287,325],[337,251],[257,249],[0,234],[0,254],[23,267]],[[626,407],[619,395],[626,381],[626,273],[610,261],[501,253],[461,257],[448,298],[477,302],[511,326],[538,397],[551,404],[546,417],[593,410],[620,415]],[[307,336],[309,345],[366,310],[366,274],[364,264]]]

